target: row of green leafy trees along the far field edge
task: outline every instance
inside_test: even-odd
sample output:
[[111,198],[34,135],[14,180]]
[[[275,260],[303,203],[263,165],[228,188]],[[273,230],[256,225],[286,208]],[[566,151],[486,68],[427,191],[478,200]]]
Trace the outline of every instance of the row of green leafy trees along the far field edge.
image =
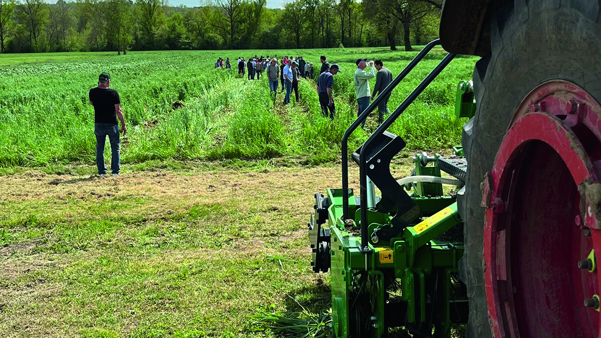
[[389,46],[438,36],[442,0],[0,0],[2,52]]

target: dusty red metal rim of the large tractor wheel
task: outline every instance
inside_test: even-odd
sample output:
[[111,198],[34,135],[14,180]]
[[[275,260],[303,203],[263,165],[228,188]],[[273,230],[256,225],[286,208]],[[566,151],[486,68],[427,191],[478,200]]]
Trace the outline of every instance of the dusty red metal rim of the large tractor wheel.
[[598,307],[584,303],[601,274],[577,263],[601,253],[600,169],[599,103],[566,81],[532,90],[483,183],[495,337],[599,337]]

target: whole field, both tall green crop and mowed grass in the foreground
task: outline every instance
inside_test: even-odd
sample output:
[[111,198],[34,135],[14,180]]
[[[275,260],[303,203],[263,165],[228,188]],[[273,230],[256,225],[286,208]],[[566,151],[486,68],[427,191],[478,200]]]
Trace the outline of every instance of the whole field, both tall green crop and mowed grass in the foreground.
[[[0,55],[0,337],[275,337],[261,315],[326,312],[306,224],[314,192],[340,185],[354,60],[381,58],[396,75],[416,52],[286,52],[340,64],[334,121],[311,81],[282,106],[265,78],[213,69],[219,56],[283,51]],[[443,55],[397,88],[391,110]],[[411,153],[459,143],[454,93],[474,63],[454,60],[392,126],[408,143],[395,176]],[[129,128],[116,179],[94,176],[87,93],[103,71]],[[350,149],[375,127],[370,117]]]

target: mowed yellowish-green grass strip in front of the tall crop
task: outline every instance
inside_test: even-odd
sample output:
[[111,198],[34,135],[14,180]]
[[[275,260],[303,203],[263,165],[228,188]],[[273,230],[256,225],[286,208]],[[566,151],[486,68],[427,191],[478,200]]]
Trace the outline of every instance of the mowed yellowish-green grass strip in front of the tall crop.
[[340,167],[5,176],[0,336],[272,337],[257,315],[329,309],[306,224],[339,180]]

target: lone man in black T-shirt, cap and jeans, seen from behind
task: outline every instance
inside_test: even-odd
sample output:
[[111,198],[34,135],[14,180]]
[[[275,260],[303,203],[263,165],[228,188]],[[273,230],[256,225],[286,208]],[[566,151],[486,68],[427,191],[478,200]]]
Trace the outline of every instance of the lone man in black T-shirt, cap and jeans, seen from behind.
[[90,90],[90,105],[94,106],[94,135],[96,135],[96,165],[100,177],[106,176],[105,166],[105,142],[106,136],[111,143],[111,171],[112,177],[117,177],[120,171],[121,157],[119,154],[119,124],[121,121],[121,132],[127,134],[123,111],[121,111],[121,100],[116,90],[111,86],[111,75],[102,73],[98,78],[98,87]]

